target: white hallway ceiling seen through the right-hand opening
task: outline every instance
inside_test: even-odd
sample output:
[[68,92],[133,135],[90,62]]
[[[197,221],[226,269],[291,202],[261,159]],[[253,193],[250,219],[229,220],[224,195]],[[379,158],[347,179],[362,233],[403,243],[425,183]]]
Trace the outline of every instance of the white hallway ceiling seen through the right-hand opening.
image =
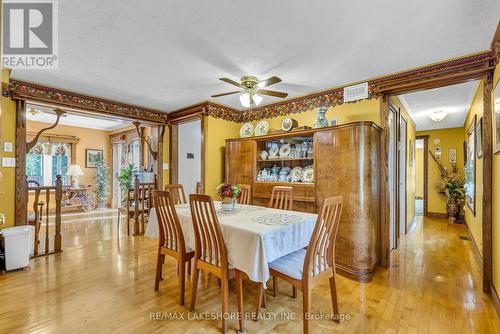
[[[415,122],[417,131],[463,127],[470,104],[474,99],[478,81],[399,95]],[[441,122],[434,122],[429,115],[444,111],[448,115]]]

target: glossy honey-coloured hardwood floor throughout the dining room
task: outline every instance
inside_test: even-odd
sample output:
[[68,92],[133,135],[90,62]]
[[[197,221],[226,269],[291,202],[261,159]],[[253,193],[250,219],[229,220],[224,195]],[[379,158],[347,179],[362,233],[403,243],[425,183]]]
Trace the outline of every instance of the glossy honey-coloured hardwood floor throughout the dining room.
[[[157,241],[127,237],[125,224],[121,227],[118,238],[116,218],[65,223],[62,254],[35,258],[29,269],[0,275],[0,333],[219,333],[218,319],[187,320],[220,310],[215,278],[202,274],[195,313],[189,313],[178,305],[175,261],[167,258],[165,279],[155,293]],[[463,225],[419,221],[393,252],[393,267],[379,269],[373,282],[338,276],[339,308],[348,319],[313,321],[312,332],[500,333],[492,302],[481,291],[474,246],[459,239],[466,235]],[[257,289],[250,284],[244,284],[247,312],[256,301]],[[287,312],[301,317],[302,296],[293,299],[284,281],[279,286],[279,297],[267,292],[262,311],[278,319],[246,320],[248,333],[302,332],[300,319],[281,319],[290,316]],[[236,312],[234,284],[229,301],[229,310]],[[329,315],[331,310],[325,280],[313,290],[312,312]],[[156,312],[163,320],[150,319]],[[173,319],[181,316],[185,319]],[[230,331],[237,326],[237,320],[229,320]]]

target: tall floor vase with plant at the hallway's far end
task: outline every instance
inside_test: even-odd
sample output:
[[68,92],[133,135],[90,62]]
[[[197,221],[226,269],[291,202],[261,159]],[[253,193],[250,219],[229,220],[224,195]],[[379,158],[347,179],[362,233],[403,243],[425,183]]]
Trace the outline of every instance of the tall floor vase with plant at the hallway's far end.
[[460,214],[460,205],[465,198],[464,177],[454,168],[451,173],[441,176],[439,190],[448,199],[446,203],[448,219],[456,220]]

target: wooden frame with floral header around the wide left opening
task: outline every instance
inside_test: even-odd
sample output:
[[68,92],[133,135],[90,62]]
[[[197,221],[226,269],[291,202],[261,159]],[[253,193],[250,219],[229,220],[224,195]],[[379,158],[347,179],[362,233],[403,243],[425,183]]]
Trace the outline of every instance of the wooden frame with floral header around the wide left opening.
[[[4,94],[3,91],[2,94]],[[6,94],[16,101],[15,225],[25,225],[28,216],[26,182],[27,103],[59,108],[85,115],[103,115],[147,123],[152,127],[153,150],[157,151],[153,170],[156,173],[158,185],[163,183],[163,134],[167,121],[166,113],[19,80],[9,81],[9,90]],[[42,132],[43,130],[40,131],[40,133]]]

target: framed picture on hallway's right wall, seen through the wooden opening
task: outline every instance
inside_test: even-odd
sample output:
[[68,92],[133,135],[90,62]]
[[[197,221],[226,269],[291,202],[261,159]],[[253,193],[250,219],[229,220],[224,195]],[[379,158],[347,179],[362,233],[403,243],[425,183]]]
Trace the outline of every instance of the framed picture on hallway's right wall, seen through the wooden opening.
[[476,116],[467,130],[467,163],[465,164],[465,201],[476,216]]

